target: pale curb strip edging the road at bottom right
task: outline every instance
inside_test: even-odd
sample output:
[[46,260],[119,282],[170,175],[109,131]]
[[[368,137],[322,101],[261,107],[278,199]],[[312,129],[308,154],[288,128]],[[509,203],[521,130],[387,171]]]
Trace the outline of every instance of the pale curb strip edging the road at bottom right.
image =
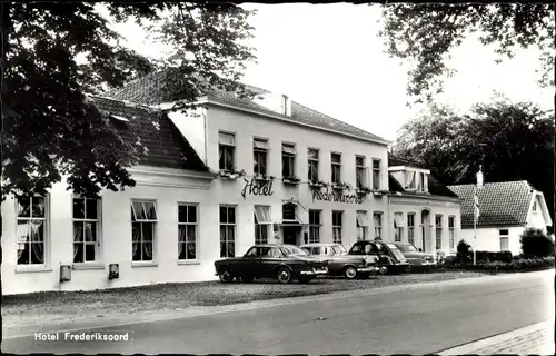
[[[498,345],[498,344],[504,344],[507,343],[514,338],[518,338],[522,336],[525,336],[527,334],[532,334],[535,332],[543,332],[543,330],[552,330],[552,335],[554,335],[554,323],[550,324],[550,322],[545,320],[542,323],[528,325],[526,327],[522,327],[512,332],[498,334],[492,337],[486,337],[473,343],[468,343],[465,345],[451,347],[448,349],[445,349],[443,352],[437,353],[437,355],[440,356],[446,356],[446,355],[468,355],[468,354],[477,354],[484,348]],[[512,350],[510,350],[512,353]]]

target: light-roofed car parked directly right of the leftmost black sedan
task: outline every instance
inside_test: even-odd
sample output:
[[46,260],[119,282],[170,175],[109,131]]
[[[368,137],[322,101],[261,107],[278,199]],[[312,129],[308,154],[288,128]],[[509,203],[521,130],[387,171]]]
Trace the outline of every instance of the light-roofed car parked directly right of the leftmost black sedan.
[[348,279],[367,278],[373,273],[378,273],[375,256],[348,255],[340,244],[305,244],[299,246],[311,256],[328,259],[328,274],[330,276],[345,276]]

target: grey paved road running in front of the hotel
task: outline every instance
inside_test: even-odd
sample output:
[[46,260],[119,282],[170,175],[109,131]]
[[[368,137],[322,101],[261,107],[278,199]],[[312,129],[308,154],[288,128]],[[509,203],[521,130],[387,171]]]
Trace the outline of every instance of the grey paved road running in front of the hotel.
[[[316,297],[317,298],[317,297]],[[2,352],[54,354],[427,354],[554,320],[554,271],[274,306],[88,332],[129,342],[4,339]]]

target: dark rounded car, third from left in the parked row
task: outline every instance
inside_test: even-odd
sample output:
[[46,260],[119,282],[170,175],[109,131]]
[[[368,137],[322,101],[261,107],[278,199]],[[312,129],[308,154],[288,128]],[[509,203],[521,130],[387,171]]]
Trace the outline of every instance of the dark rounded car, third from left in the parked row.
[[409,266],[404,254],[391,243],[379,240],[357,241],[351,246],[348,254],[354,256],[376,256],[381,275],[405,271]]

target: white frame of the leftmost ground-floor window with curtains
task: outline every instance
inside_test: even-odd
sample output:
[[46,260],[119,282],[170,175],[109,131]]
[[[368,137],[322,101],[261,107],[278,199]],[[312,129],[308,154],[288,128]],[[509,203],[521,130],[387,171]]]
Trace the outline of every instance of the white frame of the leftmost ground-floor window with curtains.
[[[32,216],[32,198],[33,197],[40,197],[40,198],[43,198],[44,199],[44,217],[33,217]],[[20,195],[14,195],[14,206],[16,206],[16,270],[32,270],[32,269],[44,269],[49,266],[50,264],[50,195],[49,194],[46,194],[46,195],[33,195],[32,197],[30,197],[30,206],[29,206],[29,214],[30,216],[29,217],[19,217],[19,211],[18,211],[18,199],[19,198],[23,198],[22,196]],[[32,243],[30,240],[28,240],[28,238],[30,238],[30,236],[27,236],[28,238],[26,238],[26,241],[22,241],[20,243],[19,241],[19,237],[20,237],[20,234],[18,231],[18,226],[19,226],[19,221],[33,221],[33,220],[38,220],[38,221],[43,221],[42,226],[43,226],[43,240],[42,240],[42,264],[18,264],[19,261],[19,250],[20,250],[20,247],[21,245],[24,245],[24,244],[29,244],[29,254],[32,254]],[[27,225],[27,231],[29,231],[29,225]],[[21,244],[21,245],[20,245]],[[37,244],[37,243],[36,243]],[[24,251],[24,247],[22,248],[22,250]],[[29,261],[31,261],[31,256],[29,256]]]

